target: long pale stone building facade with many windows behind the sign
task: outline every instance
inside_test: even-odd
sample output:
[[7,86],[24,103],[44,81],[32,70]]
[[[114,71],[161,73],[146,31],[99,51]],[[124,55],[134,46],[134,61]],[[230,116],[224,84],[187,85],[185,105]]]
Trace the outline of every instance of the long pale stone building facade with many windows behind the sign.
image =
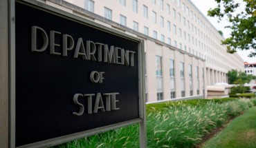
[[46,0],[101,25],[144,40],[147,102],[202,98],[206,85],[228,82],[228,70],[244,70],[228,54],[223,36],[189,0]]

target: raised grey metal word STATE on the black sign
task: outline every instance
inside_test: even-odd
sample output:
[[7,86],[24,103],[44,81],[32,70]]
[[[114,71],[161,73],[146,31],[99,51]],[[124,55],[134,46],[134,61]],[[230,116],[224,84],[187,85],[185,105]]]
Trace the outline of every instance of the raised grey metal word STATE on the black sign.
[[[86,99],[87,100],[87,113],[93,114],[98,113],[98,110],[100,109],[100,112],[109,112],[111,110],[118,110],[116,106],[116,103],[118,103],[118,100],[116,99],[116,95],[118,95],[118,92],[113,93],[104,93],[104,94],[75,94],[73,96],[73,102],[75,105],[79,107],[79,112],[73,112],[73,115],[75,116],[82,116],[84,114],[84,105],[78,101],[78,99]],[[93,97],[95,96],[95,97]],[[106,105],[104,106],[102,96],[105,96],[106,98]],[[92,100],[95,99],[94,107],[92,105]]]

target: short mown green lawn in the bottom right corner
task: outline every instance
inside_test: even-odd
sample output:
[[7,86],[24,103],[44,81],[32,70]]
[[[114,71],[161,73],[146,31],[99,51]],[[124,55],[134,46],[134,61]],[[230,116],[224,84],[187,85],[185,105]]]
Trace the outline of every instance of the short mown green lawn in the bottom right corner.
[[232,120],[217,136],[205,142],[203,147],[256,148],[256,107]]

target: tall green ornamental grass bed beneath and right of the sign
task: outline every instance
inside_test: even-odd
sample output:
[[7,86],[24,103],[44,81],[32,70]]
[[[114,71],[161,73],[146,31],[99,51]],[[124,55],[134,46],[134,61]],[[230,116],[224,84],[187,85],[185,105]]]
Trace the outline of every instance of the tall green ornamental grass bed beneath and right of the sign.
[[[256,105],[254,99],[221,98],[147,105],[147,147],[194,147],[212,129]],[[138,125],[55,147],[139,147]]]

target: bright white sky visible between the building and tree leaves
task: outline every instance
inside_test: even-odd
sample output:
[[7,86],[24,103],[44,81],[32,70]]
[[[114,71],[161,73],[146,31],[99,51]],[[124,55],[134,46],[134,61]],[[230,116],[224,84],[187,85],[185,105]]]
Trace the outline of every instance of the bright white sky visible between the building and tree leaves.
[[[223,32],[224,38],[228,38],[230,36],[230,29],[224,28],[226,25],[229,25],[230,23],[223,19],[220,21],[220,23],[217,23],[218,19],[214,17],[208,17],[207,11],[210,10],[210,8],[215,8],[217,6],[217,3],[214,0],[190,0],[192,3],[194,3],[194,6],[198,8],[201,13],[212,23],[212,25],[217,29],[221,30]],[[235,0],[235,1],[241,1],[241,0]],[[242,11],[242,10],[239,10]],[[242,59],[244,59],[245,62],[248,63],[256,63],[256,57],[250,58],[248,57],[248,54],[250,54],[249,50],[243,50],[237,52],[239,56],[241,56]]]

